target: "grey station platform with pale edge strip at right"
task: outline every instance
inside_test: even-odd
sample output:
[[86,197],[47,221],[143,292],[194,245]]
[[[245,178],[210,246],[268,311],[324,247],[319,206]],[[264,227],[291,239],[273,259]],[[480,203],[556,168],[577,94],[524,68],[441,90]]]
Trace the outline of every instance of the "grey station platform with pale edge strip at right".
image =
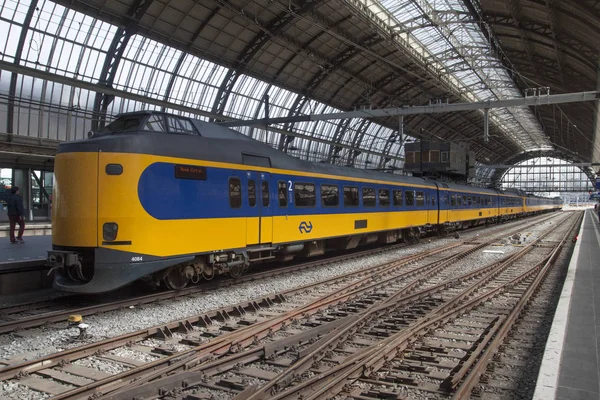
[[600,399],[600,223],[593,209],[585,211],[533,398]]

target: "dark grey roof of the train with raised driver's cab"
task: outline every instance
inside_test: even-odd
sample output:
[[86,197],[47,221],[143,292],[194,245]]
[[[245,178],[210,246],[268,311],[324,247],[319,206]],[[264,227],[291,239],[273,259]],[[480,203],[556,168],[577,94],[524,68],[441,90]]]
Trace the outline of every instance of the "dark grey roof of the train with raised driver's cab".
[[[199,136],[196,134],[179,135],[169,134],[167,132],[141,130],[142,123],[147,121],[146,118],[151,115],[164,115],[180,120],[189,120],[197,130]],[[111,132],[110,130],[110,126],[114,126],[119,120],[133,120],[135,122],[136,119],[139,120],[137,128],[135,128],[134,123],[129,125],[127,130],[117,132]],[[140,133],[143,135],[140,135]],[[457,191],[470,191],[484,194],[498,193],[498,191],[494,189],[438,182],[421,177],[404,176],[300,160],[234,129],[161,111],[149,110],[119,114],[116,120],[111,122],[111,124],[103,130],[94,133],[90,139],[62,143],[59,146],[58,153],[69,151],[69,147],[74,143],[83,145],[79,147],[86,147],[87,145],[87,147],[90,148],[89,151],[94,151],[93,149],[98,148],[99,146],[102,148],[102,151],[156,154],[168,157],[246,164],[258,167],[271,167],[281,170],[334,175],[347,178],[398,182],[432,188],[438,185],[441,188]],[[96,143],[97,145],[94,145],[93,143]]]

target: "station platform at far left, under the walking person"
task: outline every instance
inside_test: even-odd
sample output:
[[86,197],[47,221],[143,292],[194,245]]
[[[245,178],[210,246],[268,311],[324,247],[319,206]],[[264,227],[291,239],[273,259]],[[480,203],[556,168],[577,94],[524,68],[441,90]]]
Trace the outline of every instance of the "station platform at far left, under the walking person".
[[23,240],[11,244],[8,237],[0,237],[0,295],[52,286],[45,266],[52,235],[27,236],[26,231]]

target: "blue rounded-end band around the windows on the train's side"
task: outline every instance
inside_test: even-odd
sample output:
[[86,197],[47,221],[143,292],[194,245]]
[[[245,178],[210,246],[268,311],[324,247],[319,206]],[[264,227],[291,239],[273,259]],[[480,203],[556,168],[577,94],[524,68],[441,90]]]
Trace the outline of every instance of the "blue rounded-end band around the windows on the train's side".
[[[359,192],[362,187],[373,187],[375,189],[398,189],[397,186],[380,185],[369,183],[353,183],[336,179],[322,179],[310,177],[295,177],[280,174],[264,174],[265,180],[269,182],[269,207],[262,207],[260,204],[260,172],[231,170],[227,168],[206,168],[206,180],[194,179],[176,179],[174,164],[154,163],[148,166],[142,173],[138,182],[138,196],[142,207],[148,214],[159,220],[173,219],[199,219],[199,218],[232,218],[232,217],[253,217],[258,215],[307,215],[307,214],[342,214],[342,213],[370,213],[385,211],[407,211],[407,210],[437,210],[438,198],[436,189],[403,187],[403,190],[423,191],[427,196],[435,196],[435,204],[429,201],[426,206],[407,207],[403,205],[389,207],[323,207],[321,205],[320,185],[337,184],[339,187],[340,202],[343,203],[343,186],[358,186]],[[230,177],[238,177],[242,183],[242,207],[232,209],[229,205],[229,183]],[[248,181],[255,179],[257,189],[257,205],[250,207],[248,203]],[[292,181],[314,183],[316,187],[316,206],[315,207],[296,207],[294,204],[288,204],[287,207],[280,207],[277,196],[278,181]],[[448,196],[452,193],[448,192]],[[465,194],[469,196],[470,194]],[[362,196],[361,196],[362,197]],[[405,196],[403,196],[405,198]],[[489,197],[489,196],[482,196]],[[449,198],[449,197],[448,197]],[[361,201],[362,204],[362,201]],[[379,204],[379,203],[378,203]],[[497,201],[494,198],[492,206],[449,206],[442,202],[442,209],[475,209],[475,208],[494,208],[497,207]]]

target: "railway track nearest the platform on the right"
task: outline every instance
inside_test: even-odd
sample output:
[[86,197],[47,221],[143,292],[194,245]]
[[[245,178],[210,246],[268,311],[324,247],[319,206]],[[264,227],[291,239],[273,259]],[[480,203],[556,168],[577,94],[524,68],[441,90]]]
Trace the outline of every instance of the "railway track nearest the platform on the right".
[[[468,398],[575,219],[502,262],[412,293],[380,289],[247,351],[188,361],[186,372],[154,381],[161,374],[149,374],[106,398]],[[543,241],[549,236],[555,240]]]

